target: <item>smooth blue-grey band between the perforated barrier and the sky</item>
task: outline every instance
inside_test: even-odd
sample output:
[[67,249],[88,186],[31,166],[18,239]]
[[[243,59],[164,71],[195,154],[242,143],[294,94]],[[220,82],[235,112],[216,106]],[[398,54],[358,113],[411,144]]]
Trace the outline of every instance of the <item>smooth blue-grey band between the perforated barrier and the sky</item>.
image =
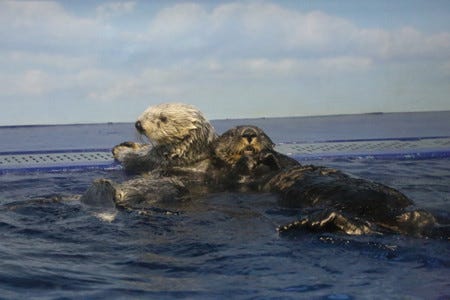
[[[213,120],[219,133],[259,126],[275,143],[450,136],[450,111],[324,117]],[[111,148],[136,140],[132,123],[0,126],[0,152]]]

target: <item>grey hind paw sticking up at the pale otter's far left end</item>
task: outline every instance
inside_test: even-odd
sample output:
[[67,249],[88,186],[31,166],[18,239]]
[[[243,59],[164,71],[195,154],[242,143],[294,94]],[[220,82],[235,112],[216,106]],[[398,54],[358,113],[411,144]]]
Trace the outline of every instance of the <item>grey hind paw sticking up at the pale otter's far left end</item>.
[[108,179],[97,179],[81,196],[81,203],[91,207],[114,208],[116,188]]

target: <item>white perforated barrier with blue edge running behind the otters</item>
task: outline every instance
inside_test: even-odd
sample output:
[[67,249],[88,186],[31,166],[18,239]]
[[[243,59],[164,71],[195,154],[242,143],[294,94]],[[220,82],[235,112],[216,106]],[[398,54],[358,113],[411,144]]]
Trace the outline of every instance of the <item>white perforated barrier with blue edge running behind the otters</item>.
[[[302,160],[333,158],[427,159],[450,157],[450,137],[288,142],[276,150]],[[0,152],[0,174],[29,171],[117,170],[110,149]]]

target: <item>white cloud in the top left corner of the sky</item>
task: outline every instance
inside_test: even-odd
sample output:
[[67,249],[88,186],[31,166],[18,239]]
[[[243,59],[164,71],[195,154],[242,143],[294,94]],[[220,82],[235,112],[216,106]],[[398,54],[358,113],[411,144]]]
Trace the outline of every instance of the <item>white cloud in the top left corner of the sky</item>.
[[108,27],[50,1],[0,1],[3,50],[60,53],[96,48]]

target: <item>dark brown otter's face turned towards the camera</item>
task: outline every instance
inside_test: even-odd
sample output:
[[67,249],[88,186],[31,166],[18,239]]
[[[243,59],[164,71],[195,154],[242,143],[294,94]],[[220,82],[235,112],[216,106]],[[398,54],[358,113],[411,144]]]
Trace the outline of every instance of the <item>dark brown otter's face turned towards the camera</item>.
[[244,155],[273,151],[274,143],[256,126],[237,126],[223,133],[216,141],[215,154],[230,164]]

